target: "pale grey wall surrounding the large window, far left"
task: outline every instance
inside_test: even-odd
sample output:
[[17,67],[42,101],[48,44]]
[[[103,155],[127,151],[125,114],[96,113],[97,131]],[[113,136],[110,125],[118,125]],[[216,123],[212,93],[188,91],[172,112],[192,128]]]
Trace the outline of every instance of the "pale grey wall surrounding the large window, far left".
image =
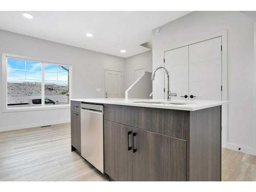
[[[124,58],[58,44],[0,30],[0,54],[10,53],[45,61],[73,64],[73,98],[103,98],[103,68],[123,71]],[[2,59],[0,90],[2,90]],[[96,92],[101,88],[101,92]],[[70,121],[70,109],[2,113],[0,94],[0,131]]]

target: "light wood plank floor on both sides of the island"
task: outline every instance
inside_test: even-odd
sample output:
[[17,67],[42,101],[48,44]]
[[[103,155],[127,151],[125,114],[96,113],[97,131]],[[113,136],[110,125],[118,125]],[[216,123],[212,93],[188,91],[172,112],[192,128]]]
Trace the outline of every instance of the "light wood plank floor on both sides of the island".
[[[256,156],[222,149],[223,181],[256,181]],[[108,181],[71,152],[70,123],[0,132],[0,181]]]

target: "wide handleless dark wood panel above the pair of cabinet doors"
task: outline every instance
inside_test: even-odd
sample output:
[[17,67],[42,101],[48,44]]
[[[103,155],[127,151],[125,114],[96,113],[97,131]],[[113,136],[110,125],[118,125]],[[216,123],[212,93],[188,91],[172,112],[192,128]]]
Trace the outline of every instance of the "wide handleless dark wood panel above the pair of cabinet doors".
[[189,129],[189,112],[180,110],[106,104],[104,119],[179,139]]

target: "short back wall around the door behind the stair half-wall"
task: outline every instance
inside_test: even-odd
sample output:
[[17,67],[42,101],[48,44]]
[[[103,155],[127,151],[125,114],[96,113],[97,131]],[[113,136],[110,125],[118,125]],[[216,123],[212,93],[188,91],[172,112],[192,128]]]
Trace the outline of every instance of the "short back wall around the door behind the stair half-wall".
[[152,51],[147,51],[127,57],[124,60],[124,90],[134,83],[134,70],[146,68],[147,72],[152,72]]

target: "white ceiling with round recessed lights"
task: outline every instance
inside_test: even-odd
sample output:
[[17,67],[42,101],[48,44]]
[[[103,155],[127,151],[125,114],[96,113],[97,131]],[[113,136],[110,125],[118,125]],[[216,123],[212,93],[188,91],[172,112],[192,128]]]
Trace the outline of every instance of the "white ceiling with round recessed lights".
[[189,11],[30,11],[32,19],[22,13],[0,11],[0,29],[129,57],[150,50],[140,45],[152,40],[153,29]]

